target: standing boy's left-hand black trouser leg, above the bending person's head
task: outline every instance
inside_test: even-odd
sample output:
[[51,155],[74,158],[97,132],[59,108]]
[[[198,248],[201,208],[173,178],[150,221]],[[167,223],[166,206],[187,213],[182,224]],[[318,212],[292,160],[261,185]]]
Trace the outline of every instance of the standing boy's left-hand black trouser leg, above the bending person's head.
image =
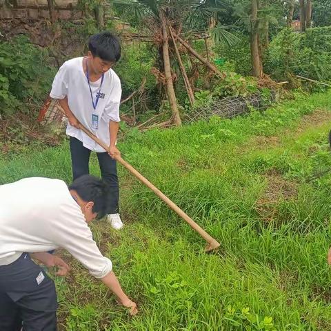
[[83,146],[83,143],[74,137],[70,137],[70,154],[72,164],[72,177],[77,179],[83,174],[88,174],[88,162],[91,151]]

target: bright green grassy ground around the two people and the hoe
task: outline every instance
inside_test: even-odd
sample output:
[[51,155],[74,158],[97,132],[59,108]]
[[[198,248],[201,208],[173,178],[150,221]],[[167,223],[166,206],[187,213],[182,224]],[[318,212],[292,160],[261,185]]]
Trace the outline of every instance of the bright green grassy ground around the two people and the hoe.
[[[123,158],[220,243],[217,254],[119,168],[126,226],[93,225],[131,318],[77,261],[56,279],[60,330],[331,330],[331,92],[297,96],[261,114],[135,132]],[[98,174],[96,158],[91,170]],[[0,161],[0,183],[70,181],[68,143]]]

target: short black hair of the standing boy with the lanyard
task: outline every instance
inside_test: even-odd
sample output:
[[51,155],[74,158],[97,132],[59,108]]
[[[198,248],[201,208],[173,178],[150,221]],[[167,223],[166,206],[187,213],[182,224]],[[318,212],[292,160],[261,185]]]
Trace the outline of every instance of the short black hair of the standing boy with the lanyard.
[[121,44],[119,39],[111,32],[99,32],[88,40],[88,50],[93,57],[104,61],[117,62],[121,58]]

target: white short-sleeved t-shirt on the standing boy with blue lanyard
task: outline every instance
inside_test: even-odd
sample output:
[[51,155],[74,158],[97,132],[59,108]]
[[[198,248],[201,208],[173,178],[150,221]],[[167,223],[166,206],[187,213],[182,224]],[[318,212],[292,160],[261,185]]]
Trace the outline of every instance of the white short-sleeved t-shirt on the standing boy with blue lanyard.
[[[109,121],[120,121],[121,81],[114,70],[110,69],[104,74],[101,89],[100,85],[101,78],[98,81],[90,81],[94,104],[96,103],[97,93],[99,93],[97,108],[94,110],[88,79],[83,70],[83,57],[77,57],[63,63],[52,83],[50,97],[61,100],[67,96],[68,106],[79,122],[109,145]],[[92,115],[94,119],[93,125]],[[95,128],[96,119],[98,128]],[[69,123],[66,133],[82,141],[83,146],[89,150],[106,152],[87,134],[70,126]]]

